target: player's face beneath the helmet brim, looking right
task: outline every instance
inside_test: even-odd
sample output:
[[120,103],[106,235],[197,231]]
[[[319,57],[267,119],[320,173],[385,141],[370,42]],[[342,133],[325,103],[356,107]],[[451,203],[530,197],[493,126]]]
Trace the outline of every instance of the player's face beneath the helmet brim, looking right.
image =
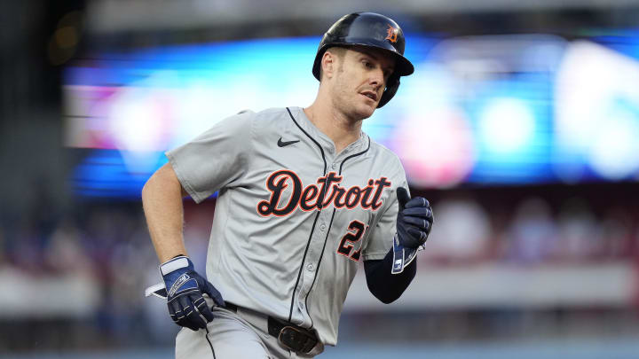
[[370,117],[382,98],[395,59],[385,51],[349,48],[335,75],[334,101],[337,109],[351,119]]

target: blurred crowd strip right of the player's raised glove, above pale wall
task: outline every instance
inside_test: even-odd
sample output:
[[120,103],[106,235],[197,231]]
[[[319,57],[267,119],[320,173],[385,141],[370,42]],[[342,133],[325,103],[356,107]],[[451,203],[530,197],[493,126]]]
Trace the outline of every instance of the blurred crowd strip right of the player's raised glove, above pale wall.
[[639,255],[639,226],[632,204],[595,208],[584,198],[525,197],[516,206],[480,204],[470,196],[435,204],[437,220],[422,261],[459,264],[631,260]]

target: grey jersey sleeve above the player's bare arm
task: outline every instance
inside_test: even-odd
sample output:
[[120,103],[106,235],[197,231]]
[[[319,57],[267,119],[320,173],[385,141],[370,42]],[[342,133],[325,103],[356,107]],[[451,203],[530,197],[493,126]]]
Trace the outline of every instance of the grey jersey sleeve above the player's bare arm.
[[228,117],[193,141],[165,153],[177,179],[195,202],[233,186],[244,175],[250,159],[254,114],[242,112]]

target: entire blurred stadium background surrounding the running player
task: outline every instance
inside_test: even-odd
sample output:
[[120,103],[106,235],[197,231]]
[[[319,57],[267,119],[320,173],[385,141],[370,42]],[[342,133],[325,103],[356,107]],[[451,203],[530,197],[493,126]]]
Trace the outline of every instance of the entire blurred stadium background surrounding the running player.
[[[639,357],[636,0],[1,2],[0,357],[172,357],[143,183],[227,115],[310,105],[355,11],[406,32],[415,74],[364,128],[436,224],[320,357]],[[185,205],[203,266],[215,198]]]

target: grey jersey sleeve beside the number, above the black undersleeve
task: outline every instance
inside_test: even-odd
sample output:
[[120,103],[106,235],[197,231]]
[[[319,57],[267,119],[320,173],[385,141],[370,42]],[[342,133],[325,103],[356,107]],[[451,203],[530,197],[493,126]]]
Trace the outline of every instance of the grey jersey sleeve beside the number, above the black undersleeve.
[[[397,159],[397,158],[396,158]],[[392,241],[397,231],[397,215],[398,215],[398,187],[404,187],[408,190],[406,182],[406,173],[401,163],[397,159],[396,168],[392,172],[393,178],[388,191],[392,191],[388,198],[389,204],[383,207],[383,212],[377,218],[373,231],[369,233],[366,247],[362,250],[362,258],[364,261],[381,260],[388,254]]]

